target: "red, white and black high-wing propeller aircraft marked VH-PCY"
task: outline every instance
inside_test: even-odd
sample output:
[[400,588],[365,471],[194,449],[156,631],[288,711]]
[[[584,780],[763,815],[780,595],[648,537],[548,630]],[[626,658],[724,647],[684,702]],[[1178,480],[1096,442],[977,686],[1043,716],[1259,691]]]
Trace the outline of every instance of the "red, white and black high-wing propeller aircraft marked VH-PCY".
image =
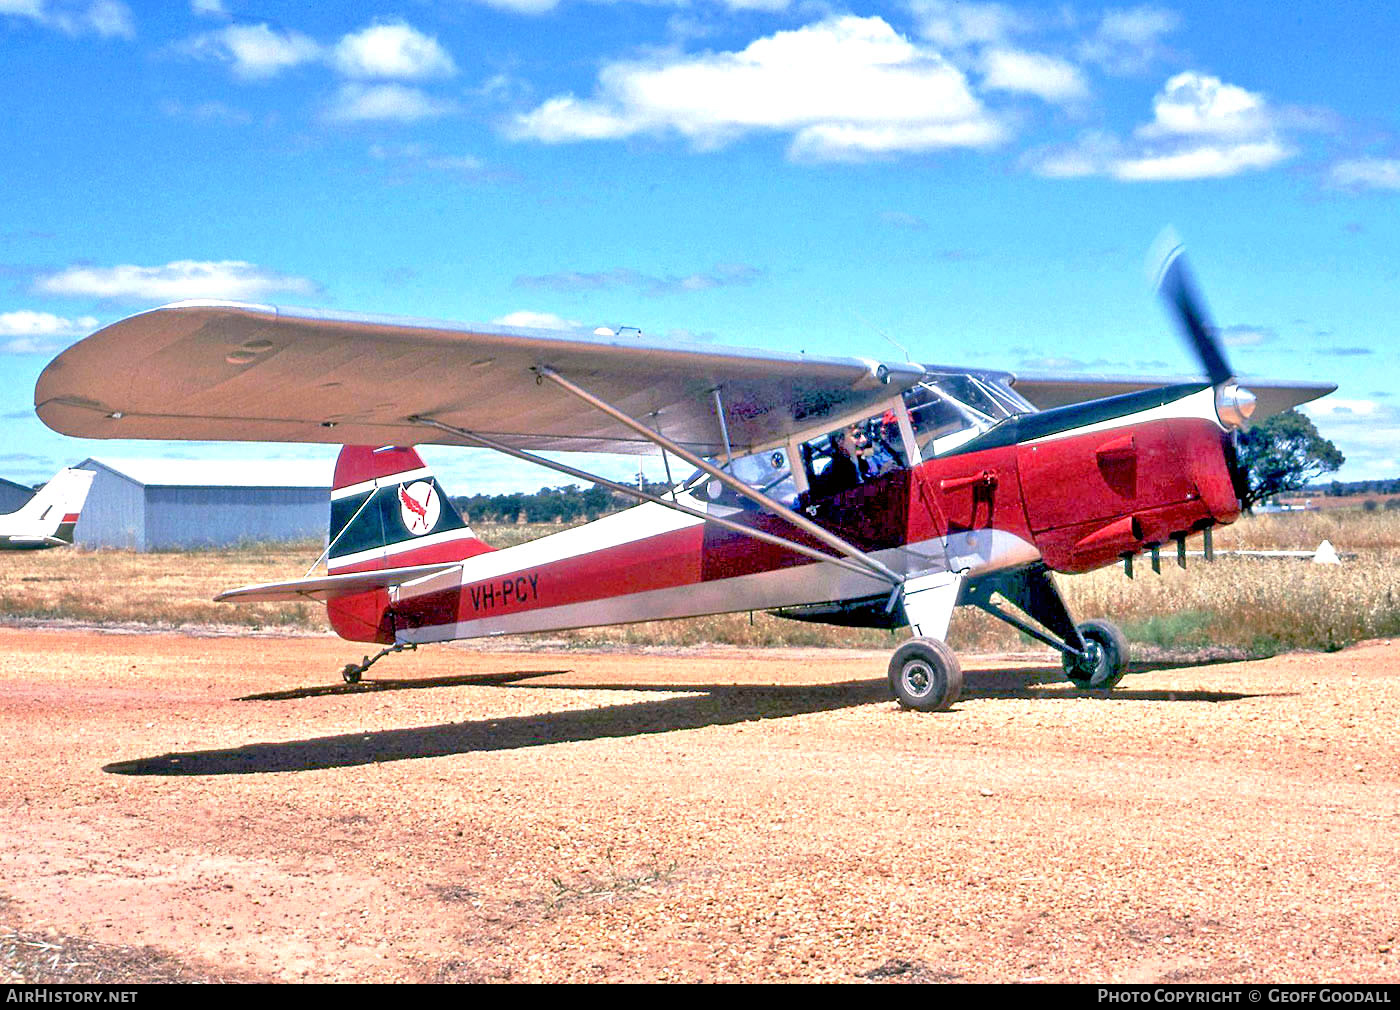
[[[1057,649],[1074,684],[1109,688],[1127,644],[1107,622],[1075,625],[1051,573],[1141,552],[1156,566],[1173,542],[1184,565],[1189,537],[1239,516],[1232,431],[1336,388],[1239,385],[1179,249],[1165,263],[1161,290],[1203,380],[1018,378],[197,301],[63,352],[35,409],[88,438],[344,444],[328,574],[218,598],[326,601],[336,632],[382,643],[379,656],[764,609],[911,626],[890,686],[903,706],[934,710],[960,691],[944,639],[965,604]],[[399,448],[420,443],[484,445],[643,503],[493,551]],[[652,496],[539,451],[652,451],[668,472],[672,458],[696,472]]]

